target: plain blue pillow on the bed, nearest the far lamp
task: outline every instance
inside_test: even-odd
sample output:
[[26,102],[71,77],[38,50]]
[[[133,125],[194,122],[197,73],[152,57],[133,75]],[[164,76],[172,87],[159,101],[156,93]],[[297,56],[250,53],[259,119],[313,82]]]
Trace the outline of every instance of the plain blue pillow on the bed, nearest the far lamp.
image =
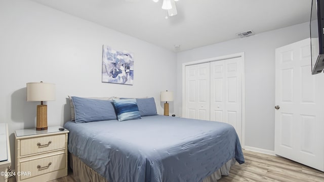
[[157,115],[154,98],[136,99],[141,116]]

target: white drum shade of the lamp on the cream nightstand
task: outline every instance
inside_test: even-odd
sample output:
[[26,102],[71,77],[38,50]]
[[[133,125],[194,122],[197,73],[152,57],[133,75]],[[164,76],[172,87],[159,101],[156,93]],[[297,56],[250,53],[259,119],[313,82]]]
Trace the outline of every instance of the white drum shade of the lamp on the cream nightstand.
[[55,101],[55,84],[27,83],[27,101]]

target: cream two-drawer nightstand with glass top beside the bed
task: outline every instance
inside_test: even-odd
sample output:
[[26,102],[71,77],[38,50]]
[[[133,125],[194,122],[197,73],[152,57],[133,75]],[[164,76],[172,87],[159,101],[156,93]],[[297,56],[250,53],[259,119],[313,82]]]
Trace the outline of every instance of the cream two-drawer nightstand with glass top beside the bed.
[[67,129],[15,131],[16,180],[49,181],[67,175]]

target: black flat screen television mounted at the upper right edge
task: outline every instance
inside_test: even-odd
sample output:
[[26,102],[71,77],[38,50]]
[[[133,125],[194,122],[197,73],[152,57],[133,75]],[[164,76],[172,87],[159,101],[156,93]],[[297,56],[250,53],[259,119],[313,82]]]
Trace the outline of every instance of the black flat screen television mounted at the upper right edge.
[[323,31],[324,31],[324,0],[312,0],[312,9],[310,14],[310,41],[311,41],[310,48],[311,48],[312,74],[321,73],[324,69]]

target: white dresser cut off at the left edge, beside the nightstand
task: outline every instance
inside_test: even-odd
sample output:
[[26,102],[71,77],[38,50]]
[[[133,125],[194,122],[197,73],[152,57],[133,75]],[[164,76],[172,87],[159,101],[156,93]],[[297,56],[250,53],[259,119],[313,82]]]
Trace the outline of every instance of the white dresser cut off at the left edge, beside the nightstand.
[[11,165],[7,123],[0,123],[0,146],[0,182],[7,182],[7,169]]

